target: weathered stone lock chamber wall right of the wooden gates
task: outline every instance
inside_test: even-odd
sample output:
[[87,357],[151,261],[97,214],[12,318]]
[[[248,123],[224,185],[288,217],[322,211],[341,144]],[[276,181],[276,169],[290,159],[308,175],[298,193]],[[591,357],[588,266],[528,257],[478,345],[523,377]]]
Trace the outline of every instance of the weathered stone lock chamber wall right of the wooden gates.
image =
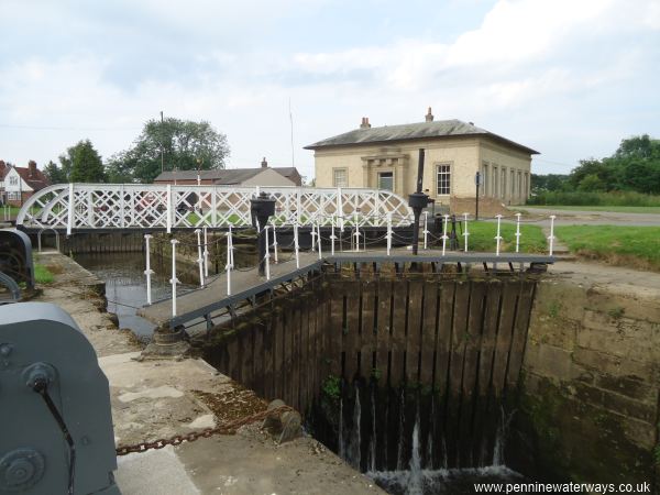
[[659,300],[660,288],[615,280],[539,283],[518,418],[518,438],[537,452],[522,460],[527,473],[658,480]]

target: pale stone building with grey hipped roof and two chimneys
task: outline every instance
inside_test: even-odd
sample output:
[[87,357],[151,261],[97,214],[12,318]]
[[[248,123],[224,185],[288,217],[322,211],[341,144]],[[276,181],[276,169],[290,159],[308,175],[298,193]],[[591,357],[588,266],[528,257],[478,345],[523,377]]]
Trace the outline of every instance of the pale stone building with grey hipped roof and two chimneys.
[[430,108],[425,117],[425,122],[380,128],[363,118],[360,129],[305,146],[315,152],[316,186],[381,188],[406,197],[415,191],[418,150],[424,147],[424,189],[437,204],[473,201],[477,170],[483,177],[480,196],[525,204],[537,151],[472,122],[433,121]]

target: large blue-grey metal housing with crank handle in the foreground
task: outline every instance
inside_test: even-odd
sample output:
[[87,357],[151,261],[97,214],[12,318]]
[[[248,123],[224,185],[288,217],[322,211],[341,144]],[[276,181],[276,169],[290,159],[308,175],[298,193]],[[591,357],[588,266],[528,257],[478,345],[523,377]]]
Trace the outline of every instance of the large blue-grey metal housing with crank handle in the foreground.
[[0,307],[0,494],[118,495],[108,380],[59,307]]

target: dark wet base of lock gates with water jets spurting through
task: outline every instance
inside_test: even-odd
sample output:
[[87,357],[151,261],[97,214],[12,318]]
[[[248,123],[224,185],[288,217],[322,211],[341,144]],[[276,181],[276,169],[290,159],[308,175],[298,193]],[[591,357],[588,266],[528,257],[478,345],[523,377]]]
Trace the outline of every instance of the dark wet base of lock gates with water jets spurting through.
[[[321,393],[315,400],[308,427],[346,463],[394,494],[472,493],[474,480],[520,481],[505,465],[513,414],[504,404],[493,398],[492,420],[461,437],[452,435],[460,418],[448,413],[448,400],[419,386],[343,382],[339,397]],[[480,438],[472,435],[477,432]]]

